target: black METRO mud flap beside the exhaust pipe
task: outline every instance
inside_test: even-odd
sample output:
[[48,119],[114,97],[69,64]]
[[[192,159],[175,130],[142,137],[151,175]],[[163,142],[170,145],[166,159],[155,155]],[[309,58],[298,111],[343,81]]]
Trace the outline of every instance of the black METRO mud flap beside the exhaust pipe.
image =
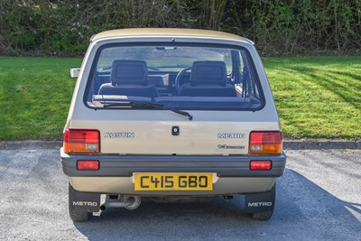
[[69,183],[69,208],[87,212],[100,210],[100,194],[74,190]]

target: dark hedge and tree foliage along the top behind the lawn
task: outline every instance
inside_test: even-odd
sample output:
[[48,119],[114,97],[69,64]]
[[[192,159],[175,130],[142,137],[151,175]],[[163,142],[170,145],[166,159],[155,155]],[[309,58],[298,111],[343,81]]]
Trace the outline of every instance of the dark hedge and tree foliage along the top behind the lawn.
[[76,56],[94,33],[174,27],[233,32],[263,54],[361,49],[361,0],[1,0],[0,51]]

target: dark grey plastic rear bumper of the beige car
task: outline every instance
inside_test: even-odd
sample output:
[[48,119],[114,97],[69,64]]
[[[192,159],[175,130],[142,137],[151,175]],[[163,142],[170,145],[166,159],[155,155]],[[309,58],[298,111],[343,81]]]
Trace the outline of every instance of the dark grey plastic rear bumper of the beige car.
[[[134,172],[211,172],[218,177],[279,177],[286,165],[280,155],[69,155],[60,149],[62,169],[69,177],[131,177]],[[77,170],[78,160],[98,160],[98,171]],[[251,160],[272,161],[270,171],[250,171]]]

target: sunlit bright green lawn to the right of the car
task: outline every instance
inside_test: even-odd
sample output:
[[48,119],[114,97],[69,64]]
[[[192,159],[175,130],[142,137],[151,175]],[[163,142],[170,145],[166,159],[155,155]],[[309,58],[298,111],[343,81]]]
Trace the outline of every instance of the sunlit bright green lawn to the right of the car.
[[264,58],[285,136],[361,138],[361,56]]

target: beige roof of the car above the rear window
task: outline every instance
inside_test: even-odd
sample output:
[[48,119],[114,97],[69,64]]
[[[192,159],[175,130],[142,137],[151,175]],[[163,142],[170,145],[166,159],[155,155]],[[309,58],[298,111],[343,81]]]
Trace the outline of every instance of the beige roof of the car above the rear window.
[[146,37],[146,36],[174,36],[174,37],[202,37],[202,38],[216,38],[216,39],[227,39],[236,40],[242,42],[252,41],[243,37],[237,36],[236,34],[228,32],[218,32],[210,30],[199,30],[199,29],[179,29],[179,28],[134,28],[134,29],[116,29],[109,30],[106,32],[99,32],[90,41],[97,41],[100,39],[116,38],[116,37]]

